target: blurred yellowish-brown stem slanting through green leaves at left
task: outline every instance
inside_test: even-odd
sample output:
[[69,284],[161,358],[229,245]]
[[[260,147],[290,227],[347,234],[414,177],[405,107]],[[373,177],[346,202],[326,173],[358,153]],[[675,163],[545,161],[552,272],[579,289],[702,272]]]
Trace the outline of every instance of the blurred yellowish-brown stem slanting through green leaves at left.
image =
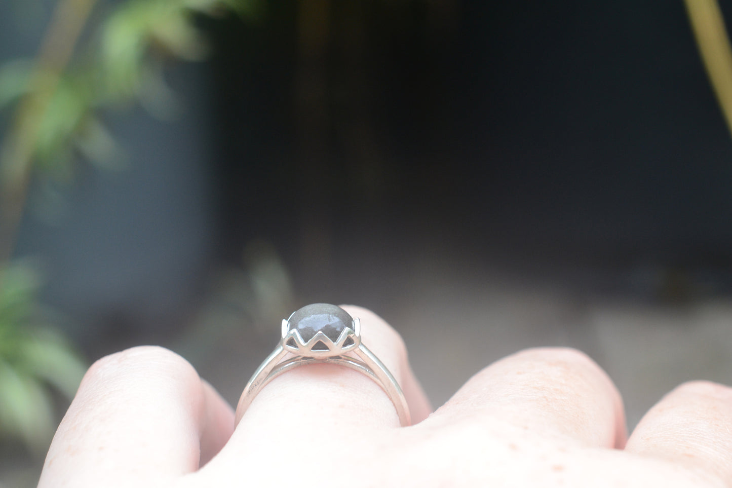
[[97,0],[59,0],[43,37],[29,92],[0,144],[0,264],[10,259],[23,216],[38,130],[61,73]]

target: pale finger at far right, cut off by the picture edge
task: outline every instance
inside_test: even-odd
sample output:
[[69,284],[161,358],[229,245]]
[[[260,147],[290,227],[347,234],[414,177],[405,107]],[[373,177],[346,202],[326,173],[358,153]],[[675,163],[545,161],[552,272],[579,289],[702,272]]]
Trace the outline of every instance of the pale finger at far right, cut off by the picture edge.
[[646,413],[628,439],[626,451],[668,459],[729,482],[732,388],[712,382],[684,383]]

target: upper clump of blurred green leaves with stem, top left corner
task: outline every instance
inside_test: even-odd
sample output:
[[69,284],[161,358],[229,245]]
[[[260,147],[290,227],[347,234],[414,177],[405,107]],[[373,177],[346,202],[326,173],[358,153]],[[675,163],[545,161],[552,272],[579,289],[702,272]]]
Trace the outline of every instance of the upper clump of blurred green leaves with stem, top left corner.
[[163,64],[206,55],[195,18],[256,11],[255,0],[128,0],[77,49],[94,3],[59,0],[37,58],[0,67],[0,109],[15,108],[0,144],[0,261],[12,253],[31,174],[69,181],[80,154],[113,162],[119,151],[100,112],[137,101],[170,116]]

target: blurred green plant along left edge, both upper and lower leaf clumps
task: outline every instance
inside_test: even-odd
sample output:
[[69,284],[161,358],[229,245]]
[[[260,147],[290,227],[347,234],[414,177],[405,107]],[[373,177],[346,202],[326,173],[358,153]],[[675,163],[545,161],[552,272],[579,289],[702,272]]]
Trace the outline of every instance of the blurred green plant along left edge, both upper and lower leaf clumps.
[[114,163],[120,151],[100,112],[139,102],[169,117],[163,65],[207,52],[196,17],[255,12],[254,0],[127,0],[92,29],[95,4],[59,0],[37,57],[0,65],[0,110],[12,110],[0,142],[0,435],[39,452],[54,427],[49,386],[71,398],[86,368],[40,305],[37,271],[11,260],[31,177],[69,182],[80,156]]

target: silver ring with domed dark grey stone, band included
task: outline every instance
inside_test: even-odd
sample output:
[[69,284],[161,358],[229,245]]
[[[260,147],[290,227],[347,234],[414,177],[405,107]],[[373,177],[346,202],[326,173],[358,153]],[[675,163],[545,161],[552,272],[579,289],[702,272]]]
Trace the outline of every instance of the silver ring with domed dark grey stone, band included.
[[402,426],[411,424],[409,407],[395,377],[361,342],[361,322],[329,303],[304,306],[282,321],[282,337],[252,378],[236,407],[237,422],[267,383],[298,366],[337,364],[366,374],[389,396]]

